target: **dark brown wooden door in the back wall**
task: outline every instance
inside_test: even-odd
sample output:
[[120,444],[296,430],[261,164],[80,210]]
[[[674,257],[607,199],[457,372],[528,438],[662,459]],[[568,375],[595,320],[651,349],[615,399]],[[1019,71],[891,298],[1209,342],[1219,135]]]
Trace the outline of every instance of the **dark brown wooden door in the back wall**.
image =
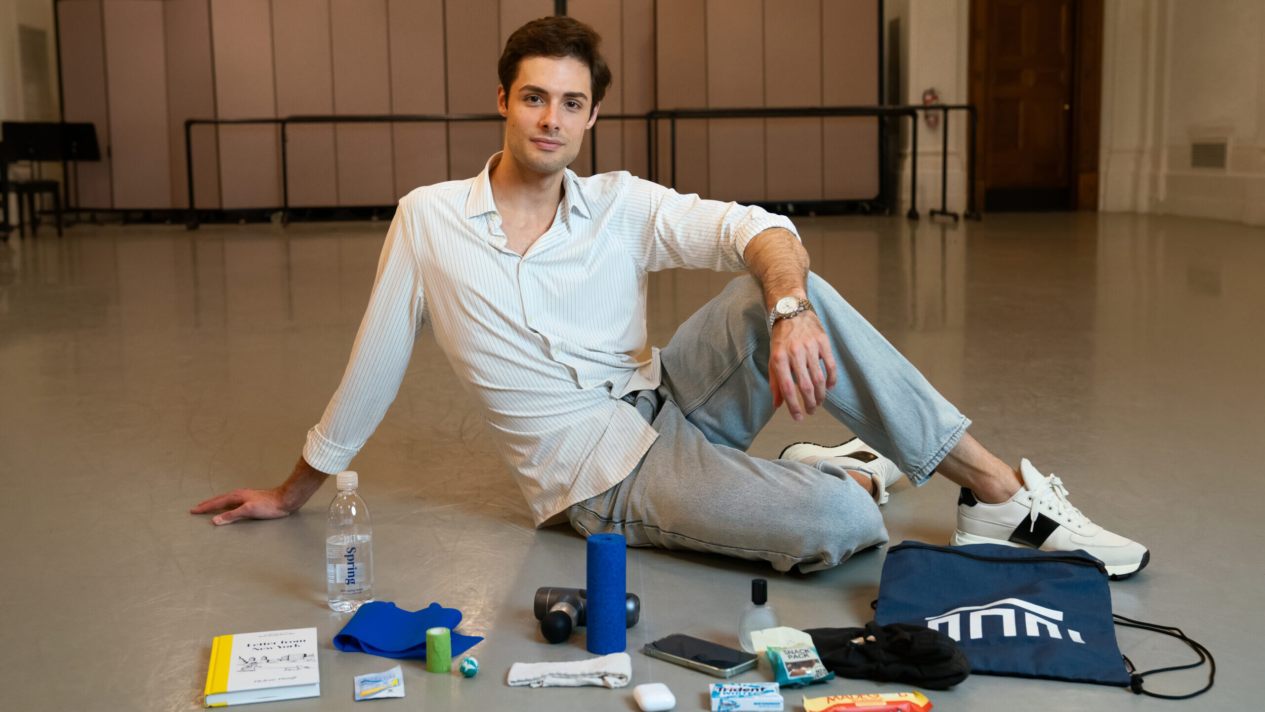
[[[1087,10],[1095,9],[1101,27],[1097,3],[973,0],[970,94],[980,113],[975,190],[985,210],[1084,205],[1077,188],[1085,150],[1078,149],[1088,148],[1079,145],[1088,140],[1083,124],[1097,126],[1098,100],[1089,97],[1085,78],[1097,87],[1098,53],[1082,47],[1082,25]],[[1097,156],[1088,168],[1097,177]]]

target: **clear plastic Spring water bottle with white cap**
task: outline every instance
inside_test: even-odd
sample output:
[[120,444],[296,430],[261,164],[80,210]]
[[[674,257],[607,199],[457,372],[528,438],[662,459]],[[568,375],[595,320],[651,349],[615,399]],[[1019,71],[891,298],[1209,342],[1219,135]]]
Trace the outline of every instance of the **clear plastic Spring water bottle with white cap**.
[[355,493],[359,476],[340,472],[336,482],[325,521],[325,578],[329,607],[348,612],[373,601],[373,530],[369,510]]

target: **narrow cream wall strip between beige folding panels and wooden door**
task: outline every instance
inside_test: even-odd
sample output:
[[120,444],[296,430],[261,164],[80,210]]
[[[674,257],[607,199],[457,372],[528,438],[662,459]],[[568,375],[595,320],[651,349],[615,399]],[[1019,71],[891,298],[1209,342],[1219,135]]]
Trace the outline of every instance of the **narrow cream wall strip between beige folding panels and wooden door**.
[[[889,104],[922,104],[922,92],[935,89],[941,104],[966,104],[968,48],[970,44],[969,0],[884,0],[884,62],[887,62],[891,21],[897,19],[899,39],[899,96]],[[884,85],[888,80],[884,78]],[[884,86],[885,89],[885,86]],[[907,120],[902,120],[907,124]],[[940,207],[941,128],[927,128],[918,118],[918,195],[916,206],[926,215]],[[902,129],[899,196],[901,211],[910,200],[910,137]],[[966,115],[954,111],[949,120],[947,207],[966,209]]]

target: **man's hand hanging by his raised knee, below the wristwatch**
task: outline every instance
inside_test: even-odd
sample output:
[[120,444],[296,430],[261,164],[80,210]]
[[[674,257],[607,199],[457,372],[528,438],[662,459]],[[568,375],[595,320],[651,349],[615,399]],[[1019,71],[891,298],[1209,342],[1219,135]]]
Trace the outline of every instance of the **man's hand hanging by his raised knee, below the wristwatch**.
[[[825,373],[821,363],[825,362]],[[769,343],[769,390],[773,407],[786,401],[791,417],[803,420],[826,402],[826,391],[835,387],[837,372],[830,338],[816,312],[805,311],[792,319],[773,322]],[[799,397],[796,397],[798,390]],[[802,398],[802,402],[801,402]]]

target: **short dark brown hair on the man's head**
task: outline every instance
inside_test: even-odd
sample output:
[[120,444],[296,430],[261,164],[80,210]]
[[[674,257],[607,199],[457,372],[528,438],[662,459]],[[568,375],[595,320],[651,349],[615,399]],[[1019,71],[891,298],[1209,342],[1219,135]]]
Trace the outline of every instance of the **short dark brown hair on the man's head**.
[[584,23],[564,15],[540,18],[514,30],[496,64],[505,94],[519,76],[519,62],[526,57],[574,57],[588,66],[593,83],[593,106],[611,86],[611,70],[602,58],[602,37]]

